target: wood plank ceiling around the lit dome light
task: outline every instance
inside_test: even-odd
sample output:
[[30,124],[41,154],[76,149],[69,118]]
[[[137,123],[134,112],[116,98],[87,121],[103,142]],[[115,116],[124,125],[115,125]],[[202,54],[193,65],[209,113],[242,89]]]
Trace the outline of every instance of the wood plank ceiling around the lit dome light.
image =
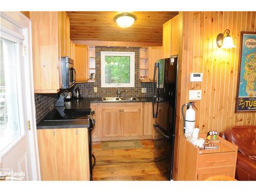
[[119,27],[114,17],[121,12],[67,11],[71,40],[154,42],[162,44],[162,25],[179,12],[130,12],[136,16],[129,28]]

